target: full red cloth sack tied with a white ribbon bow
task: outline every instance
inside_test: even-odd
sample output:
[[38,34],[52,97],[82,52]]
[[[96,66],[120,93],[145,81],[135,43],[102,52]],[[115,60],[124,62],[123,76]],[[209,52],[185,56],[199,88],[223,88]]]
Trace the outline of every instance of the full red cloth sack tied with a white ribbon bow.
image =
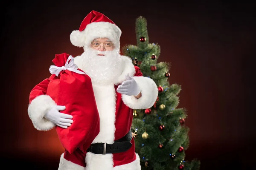
[[66,106],[61,113],[73,116],[67,129],[56,126],[58,138],[69,153],[78,147],[85,152],[99,134],[99,113],[91,79],[77,68],[69,54],[56,54],[52,62],[55,66],[49,70],[56,76],[49,82],[47,95],[57,105]]

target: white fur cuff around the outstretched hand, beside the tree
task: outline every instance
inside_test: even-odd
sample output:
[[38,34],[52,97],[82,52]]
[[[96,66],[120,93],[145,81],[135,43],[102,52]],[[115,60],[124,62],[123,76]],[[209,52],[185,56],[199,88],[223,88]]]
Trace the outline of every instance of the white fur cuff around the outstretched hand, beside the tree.
[[131,109],[151,108],[158,96],[158,88],[153,79],[148,77],[133,77],[141,90],[141,97],[122,94],[122,101]]

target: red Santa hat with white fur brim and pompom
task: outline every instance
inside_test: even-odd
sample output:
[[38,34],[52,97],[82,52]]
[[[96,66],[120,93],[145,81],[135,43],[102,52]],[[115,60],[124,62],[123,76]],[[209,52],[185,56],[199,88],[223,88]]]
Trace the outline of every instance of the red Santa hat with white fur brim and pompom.
[[122,31],[112,20],[104,14],[91,11],[82,21],[79,30],[74,30],[70,34],[70,41],[77,47],[91,45],[96,38],[108,38],[115,46],[120,48],[120,36]]

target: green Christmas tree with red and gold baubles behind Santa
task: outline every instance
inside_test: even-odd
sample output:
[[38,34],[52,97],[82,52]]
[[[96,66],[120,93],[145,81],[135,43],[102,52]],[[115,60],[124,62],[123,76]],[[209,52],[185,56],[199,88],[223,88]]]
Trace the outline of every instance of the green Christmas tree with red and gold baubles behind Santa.
[[157,63],[160,45],[149,43],[147,21],[142,16],[136,19],[136,37],[137,46],[124,45],[122,52],[144,77],[154,80],[159,91],[154,106],[134,110],[132,131],[142,170],[199,170],[199,160],[185,160],[189,128],[185,126],[186,109],[177,108],[181,86],[168,81],[170,63]]

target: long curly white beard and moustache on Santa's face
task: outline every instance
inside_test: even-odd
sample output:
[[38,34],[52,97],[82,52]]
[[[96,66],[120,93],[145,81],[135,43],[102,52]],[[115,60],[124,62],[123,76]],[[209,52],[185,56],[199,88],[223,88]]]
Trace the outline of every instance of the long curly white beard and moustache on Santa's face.
[[122,59],[117,50],[97,51],[89,47],[84,49],[81,57],[82,70],[88,74],[93,83],[114,83],[122,74]]

